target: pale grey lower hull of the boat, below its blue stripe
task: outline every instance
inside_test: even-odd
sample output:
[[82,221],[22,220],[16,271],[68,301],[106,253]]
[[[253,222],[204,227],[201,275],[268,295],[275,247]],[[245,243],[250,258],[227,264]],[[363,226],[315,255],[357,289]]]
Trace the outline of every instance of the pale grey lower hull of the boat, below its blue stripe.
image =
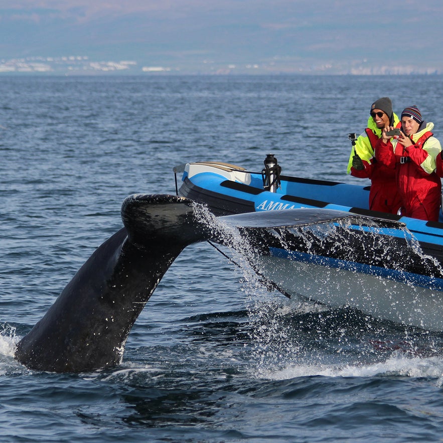
[[292,297],[331,308],[350,306],[379,319],[443,331],[443,293],[435,289],[275,256],[262,256],[255,266],[262,276]]

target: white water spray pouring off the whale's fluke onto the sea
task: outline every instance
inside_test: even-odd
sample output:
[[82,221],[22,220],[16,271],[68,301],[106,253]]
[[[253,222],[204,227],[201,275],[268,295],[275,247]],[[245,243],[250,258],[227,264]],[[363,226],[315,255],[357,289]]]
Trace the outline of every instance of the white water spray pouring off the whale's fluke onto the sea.
[[[281,380],[313,375],[396,375],[440,379],[443,372],[440,359],[443,343],[439,336],[432,337],[427,331],[417,332],[413,328],[397,325],[393,325],[392,333],[390,324],[387,327],[385,322],[352,308],[331,309],[304,298],[286,300],[280,294],[270,294],[270,288],[263,286],[256,268],[251,265],[254,257],[259,255],[256,246],[239,229],[214,217],[207,209],[199,206],[198,209],[196,207],[197,212],[198,217],[209,224],[214,236],[230,248],[232,259],[238,265],[243,281],[242,291],[247,296],[252,326],[252,360],[256,365],[254,371],[257,377]],[[315,253],[319,245],[323,247],[322,243],[329,242],[331,237],[335,239],[337,247],[343,248],[348,240],[346,232],[350,229],[356,229],[355,223],[346,219],[290,228],[284,232],[269,228],[267,232],[288,252],[290,236],[297,236],[308,251]],[[366,227],[357,226],[357,229],[364,232]],[[400,231],[410,254],[427,261],[443,274],[441,264],[423,253],[413,235],[406,228]],[[383,237],[375,223],[369,235],[371,248],[382,251],[381,259],[394,262],[395,266],[401,264],[395,242]],[[351,246],[346,247],[347,253],[352,256],[354,251]],[[406,273],[403,275],[406,280]],[[414,292],[415,286],[409,286]],[[322,289],[321,286],[319,289]]]

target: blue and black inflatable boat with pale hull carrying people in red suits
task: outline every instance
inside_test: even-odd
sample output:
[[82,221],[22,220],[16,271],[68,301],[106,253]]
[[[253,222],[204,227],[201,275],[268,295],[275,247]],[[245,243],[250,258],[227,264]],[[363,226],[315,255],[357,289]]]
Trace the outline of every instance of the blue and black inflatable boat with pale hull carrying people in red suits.
[[257,273],[289,296],[443,330],[442,223],[370,211],[361,186],[283,176],[271,193],[237,168],[188,164],[178,192],[218,216],[255,212],[246,225],[256,216],[267,227],[242,235],[259,251],[243,251]]

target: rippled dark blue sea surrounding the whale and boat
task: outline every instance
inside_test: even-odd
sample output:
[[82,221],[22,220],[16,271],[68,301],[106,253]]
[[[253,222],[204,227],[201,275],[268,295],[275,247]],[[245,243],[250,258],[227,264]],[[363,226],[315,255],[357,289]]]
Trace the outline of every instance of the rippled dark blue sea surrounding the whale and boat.
[[186,248],[121,366],[27,369],[15,345],[121,226],[133,193],[220,161],[346,175],[371,103],[417,105],[443,140],[440,76],[0,77],[0,441],[442,441],[443,334],[268,292]]

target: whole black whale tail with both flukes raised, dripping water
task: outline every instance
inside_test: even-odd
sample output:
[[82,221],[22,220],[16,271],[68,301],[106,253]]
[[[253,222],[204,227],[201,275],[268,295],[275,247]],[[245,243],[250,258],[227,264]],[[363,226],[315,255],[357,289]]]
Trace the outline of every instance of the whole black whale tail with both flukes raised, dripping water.
[[[19,342],[18,361],[32,369],[54,372],[85,372],[120,364],[135,320],[176,257],[186,246],[205,240],[236,249],[229,227],[247,240],[239,251],[249,259],[253,249],[268,255],[270,247],[286,242],[286,228],[345,220],[400,226],[398,222],[320,209],[230,215],[214,223],[214,216],[189,199],[143,194],[124,200],[121,217],[124,228],[95,250],[42,320]],[[340,235],[340,241],[343,238]],[[338,244],[334,243],[332,252]],[[310,247],[315,252],[315,244]],[[346,255],[354,250],[347,243],[338,249],[343,255],[340,258],[352,258]]]

